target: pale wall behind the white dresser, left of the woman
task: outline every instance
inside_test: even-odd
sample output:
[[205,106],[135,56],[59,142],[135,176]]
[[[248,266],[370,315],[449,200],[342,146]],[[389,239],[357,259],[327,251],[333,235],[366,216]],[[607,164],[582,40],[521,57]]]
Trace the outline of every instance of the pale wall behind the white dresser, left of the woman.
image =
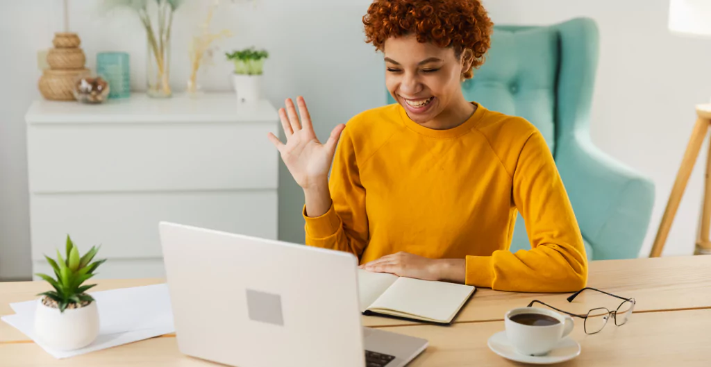
[[[188,38],[213,0],[187,0],[173,26],[171,84],[184,89],[188,75]],[[256,45],[269,50],[264,89],[275,106],[301,94],[309,104],[316,133],[327,137],[333,126],[385,102],[381,57],[363,43],[360,17],[370,0],[223,0],[213,28],[235,35],[220,42],[205,89],[230,90],[225,50]],[[51,47],[61,29],[60,0],[0,1],[0,279],[28,278],[30,251],[25,126],[23,115],[37,91],[36,51]],[[87,67],[104,50],[131,55],[132,89],[144,87],[146,40],[129,11],[106,13],[101,0],[70,1],[70,25],[82,39]],[[11,57],[5,57],[11,55]],[[71,102],[69,102],[71,103]],[[265,137],[266,138],[266,137]],[[282,165],[279,171],[279,234],[304,241],[303,193]],[[58,246],[63,239],[58,239]],[[81,246],[81,245],[80,245]]]

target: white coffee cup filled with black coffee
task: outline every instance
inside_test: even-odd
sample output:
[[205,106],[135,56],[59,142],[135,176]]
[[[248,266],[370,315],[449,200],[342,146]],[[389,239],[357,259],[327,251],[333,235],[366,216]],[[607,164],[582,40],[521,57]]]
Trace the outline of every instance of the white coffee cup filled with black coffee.
[[[556,324],[546,326],[526,325],[515,322],[517,314],[544,314],[557,319]],[[520,307],[506,312],[504,317],[506,338],[520,354],[542,356],[551,351],[573,330],[573,319],[565,314],[538,307]]]

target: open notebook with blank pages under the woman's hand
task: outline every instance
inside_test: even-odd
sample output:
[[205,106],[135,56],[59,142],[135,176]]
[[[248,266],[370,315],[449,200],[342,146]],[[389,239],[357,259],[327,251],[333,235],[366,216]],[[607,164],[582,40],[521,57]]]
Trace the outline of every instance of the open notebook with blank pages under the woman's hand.
[[474,293],[471,285],[419,280],[358,269],[360,312],[449,324]]

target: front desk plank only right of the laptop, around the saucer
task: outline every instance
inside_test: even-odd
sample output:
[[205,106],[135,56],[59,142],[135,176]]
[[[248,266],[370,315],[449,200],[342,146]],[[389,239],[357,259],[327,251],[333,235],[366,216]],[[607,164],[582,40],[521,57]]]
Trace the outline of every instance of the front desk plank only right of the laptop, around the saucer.
[[[576,321],[571,337],[582,348],[580,356],[555,366],[711,366],[708,330],[711,310],[634,314],[627,324],[609,322],[594,335]],[[523,366],[494,354],[486,346],[503,322],[395,327],[390,331],[424,337],[430,346],[409,367],[419,366]]]

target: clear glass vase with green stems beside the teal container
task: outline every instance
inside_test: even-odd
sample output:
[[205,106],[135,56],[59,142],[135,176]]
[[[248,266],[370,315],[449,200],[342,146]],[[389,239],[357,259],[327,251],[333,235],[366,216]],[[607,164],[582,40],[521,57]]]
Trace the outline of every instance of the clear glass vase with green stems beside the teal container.
[[146,65],[146,87],[150,97],[167,98],[173,94],[170,84],[171,43],[168,35],[156,40],[151,33],[148,36]]

